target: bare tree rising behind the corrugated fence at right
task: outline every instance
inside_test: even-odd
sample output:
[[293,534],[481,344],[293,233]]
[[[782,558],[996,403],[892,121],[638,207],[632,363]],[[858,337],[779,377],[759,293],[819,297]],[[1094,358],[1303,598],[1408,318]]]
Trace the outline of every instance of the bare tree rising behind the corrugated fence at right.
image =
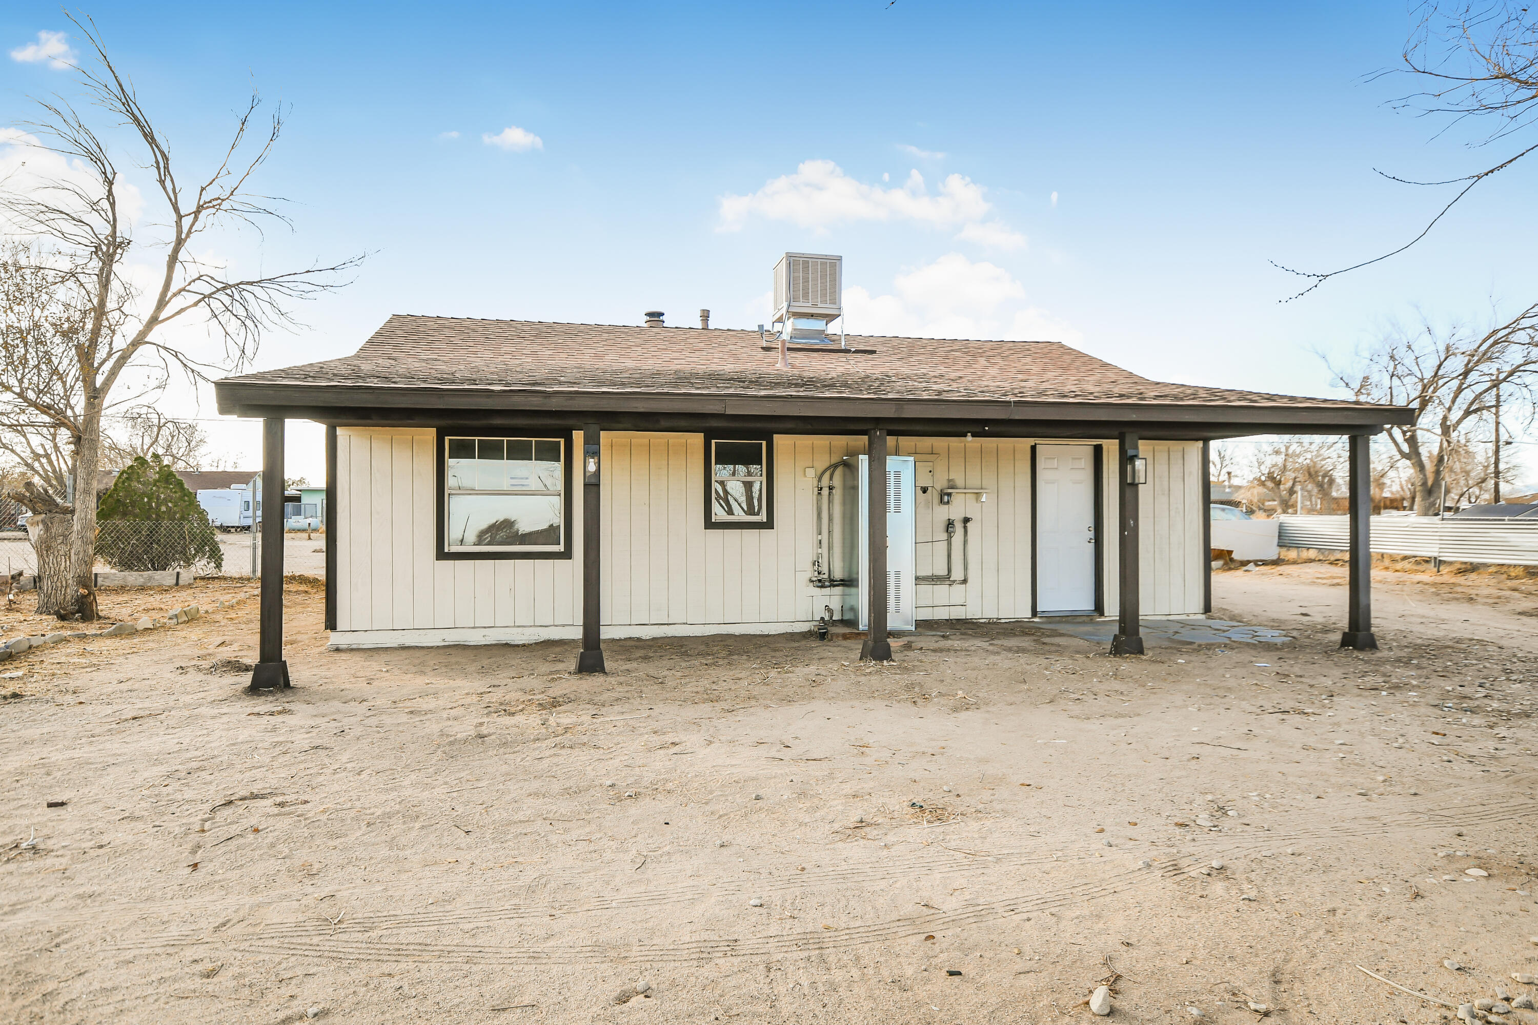
[[1393,450],[1409,463],[1415,512],[1435,516],[1449,459],[1467,432],[1495,410],[1496,392],[1507,409],[1533,409],[1538,375],[1538,304],[1475,335],[1460,327],[1438,330],[1423,321],[1415,332],[1393,330],[1335,370],[1358,400],[1409,406],[1415,423],[1389,427]]

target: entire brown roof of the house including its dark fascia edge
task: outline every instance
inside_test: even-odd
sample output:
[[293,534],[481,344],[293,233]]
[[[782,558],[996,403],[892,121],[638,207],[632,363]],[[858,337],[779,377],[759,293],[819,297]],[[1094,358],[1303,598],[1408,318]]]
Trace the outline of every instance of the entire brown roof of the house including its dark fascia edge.
[[215,383],[218,410],[334,426],[1229,438],[1375,433],[1412,410],[1167,384],[1060,343],[851,337],[777,367],[757,332],[392,317],[351,357]]

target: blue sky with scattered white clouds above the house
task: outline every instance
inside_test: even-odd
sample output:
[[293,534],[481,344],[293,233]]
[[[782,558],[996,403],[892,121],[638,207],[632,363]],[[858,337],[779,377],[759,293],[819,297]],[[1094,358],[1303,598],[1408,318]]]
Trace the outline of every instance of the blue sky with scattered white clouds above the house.
[[[177,158],[201,169],[251,86],[288,126],[260,186],[295,231],[240,267],[371,254],[258,366],[352,352],[389,313],[717,326],[764,320],[784,250],[844,257],[849,330],[1060,338],[1154,378],[1329,393],[1415,310],[1535,298],[1538,164],[1473,194],[1373,172],[1483,168],[1398,114],[1403,0],[1293,5],[174,5],[88,9]],[[68,32],[0,11],[0,52]],[[43,37],[43,43],[48,37]],[[72,40],[63,40],[69,45]],[[22,55],[28,55],[22,51]],[[0,61],[0,128],[72,91]],[[537,140],[537,143],[535,143]],[[918,174],[921,183],[914,178]],[[166,407],[214,416],[205,392]],[[252,463],[255,426],[206,424]],[[291,464],[318,479],[318,432]]]

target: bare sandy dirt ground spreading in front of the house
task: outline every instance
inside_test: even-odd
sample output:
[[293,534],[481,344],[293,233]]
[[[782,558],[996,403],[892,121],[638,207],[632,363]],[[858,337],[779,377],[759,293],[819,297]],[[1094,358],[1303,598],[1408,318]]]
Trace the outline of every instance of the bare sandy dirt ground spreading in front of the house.
[[1338,567],[1213,590],[1297,639],[614,641],[578,678],[566,642],[326,652],[294,584],[289,693],[220,661],[254,599],[29,652],[0,1019],[1087,1022],[1109,980],[1112,1022],[1386,1025],[1452,1011],[1357,965],[1530,990],[1538,582],[1378,573],[1369,655]]

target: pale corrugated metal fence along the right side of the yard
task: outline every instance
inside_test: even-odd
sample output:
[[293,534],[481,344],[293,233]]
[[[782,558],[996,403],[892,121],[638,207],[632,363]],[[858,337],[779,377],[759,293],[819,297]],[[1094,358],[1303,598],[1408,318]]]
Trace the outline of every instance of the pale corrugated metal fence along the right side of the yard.
[[[1449,516],[1373,516],[1372,550],[1444,562],[1538,566],[1538,521]],[[1281,516],[1277,544],[1290,549],[1350,547],[1346,516]]]

